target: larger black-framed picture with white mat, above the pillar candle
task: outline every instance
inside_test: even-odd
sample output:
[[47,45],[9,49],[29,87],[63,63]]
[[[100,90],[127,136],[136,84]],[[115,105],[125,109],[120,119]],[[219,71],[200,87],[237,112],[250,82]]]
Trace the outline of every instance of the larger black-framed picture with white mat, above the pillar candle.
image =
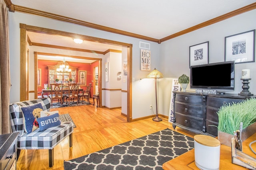
[[254,62],[255,29],[225,37],[225,61]]

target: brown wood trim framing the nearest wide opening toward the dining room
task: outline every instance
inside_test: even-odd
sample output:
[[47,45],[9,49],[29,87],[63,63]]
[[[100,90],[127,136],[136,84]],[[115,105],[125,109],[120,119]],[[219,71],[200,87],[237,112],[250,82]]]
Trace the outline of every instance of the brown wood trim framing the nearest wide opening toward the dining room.
[[[27,51],[27,31],[33,31],[51,35],[62,35],[66,37],[77,37],[80,36],[84,40],[94,41],[98,43],[107,43],[111,45],[117,45],[121,47],[127,47],[127,61],[128,61],[128,74],[127,74],[127,121],[132,121],[132,44],[122,43],[118,41],[112,41],[108,39],[101,39],[96,37],[90,37],[87,35],[80,35],[76,33],[69,33],[65,31],[58,31],[54,29],[47,29],[42,27],[36,27],[20,23],[20,101],[28,100],[28,56]],[[100,62],[99,64],[102,64]],[[37,68],[37,65],[36,65]],[[99,68],[99,73],[102,69]],[[24,81],[26,80],[26,81]],[[99,80],[99,84],[102,84]],[[101,91],[101,90],[100,90]],[[100,97],[101,97],[100,92]]]

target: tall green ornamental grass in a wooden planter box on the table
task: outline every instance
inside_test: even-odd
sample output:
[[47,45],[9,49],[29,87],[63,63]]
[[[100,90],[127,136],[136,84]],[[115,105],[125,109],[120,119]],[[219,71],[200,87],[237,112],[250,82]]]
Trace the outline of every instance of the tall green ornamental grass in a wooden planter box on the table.
[[256,133],[256,98],[250,98],[239,103],[227,104],[217,111],[218,140],[231,147],[234,131],[240,129],[242,122],[242,141]]

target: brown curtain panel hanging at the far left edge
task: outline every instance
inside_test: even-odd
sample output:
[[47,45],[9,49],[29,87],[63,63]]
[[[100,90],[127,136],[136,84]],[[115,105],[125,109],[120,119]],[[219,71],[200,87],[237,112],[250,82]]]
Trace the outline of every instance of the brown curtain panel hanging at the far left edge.
[[8,8],[0,0],[0,134],[10,133],[10,59]]

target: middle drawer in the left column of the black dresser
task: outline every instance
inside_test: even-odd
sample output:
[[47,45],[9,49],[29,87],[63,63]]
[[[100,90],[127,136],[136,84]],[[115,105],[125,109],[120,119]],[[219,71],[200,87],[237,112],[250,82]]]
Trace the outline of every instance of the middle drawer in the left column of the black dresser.
[[175,113],[176,112],[184,115],[188,115],[191,117],[204,118],[203,106],[175,103]]

